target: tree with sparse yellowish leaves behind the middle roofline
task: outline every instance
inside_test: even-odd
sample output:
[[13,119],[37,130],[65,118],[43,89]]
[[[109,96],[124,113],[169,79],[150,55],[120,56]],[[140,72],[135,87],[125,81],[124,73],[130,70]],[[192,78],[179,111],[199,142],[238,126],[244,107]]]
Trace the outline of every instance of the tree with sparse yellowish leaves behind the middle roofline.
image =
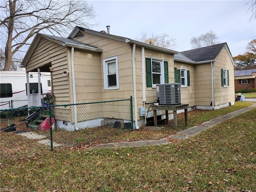
[[174,48],[176,47],[176,42],[175,39],[170,37],[168,34],[166,33],[162,33],[160,35],[154,35],[152,34],[151,37],[148,37],[148,35],[144,32],[142,32],[142,36],[141,37],[135,37],[136,40],[140,41],[140,42],[144,42],[144,43],[148,43],[148,44],[152,44],[158,47],[162,47],[162,48]]

